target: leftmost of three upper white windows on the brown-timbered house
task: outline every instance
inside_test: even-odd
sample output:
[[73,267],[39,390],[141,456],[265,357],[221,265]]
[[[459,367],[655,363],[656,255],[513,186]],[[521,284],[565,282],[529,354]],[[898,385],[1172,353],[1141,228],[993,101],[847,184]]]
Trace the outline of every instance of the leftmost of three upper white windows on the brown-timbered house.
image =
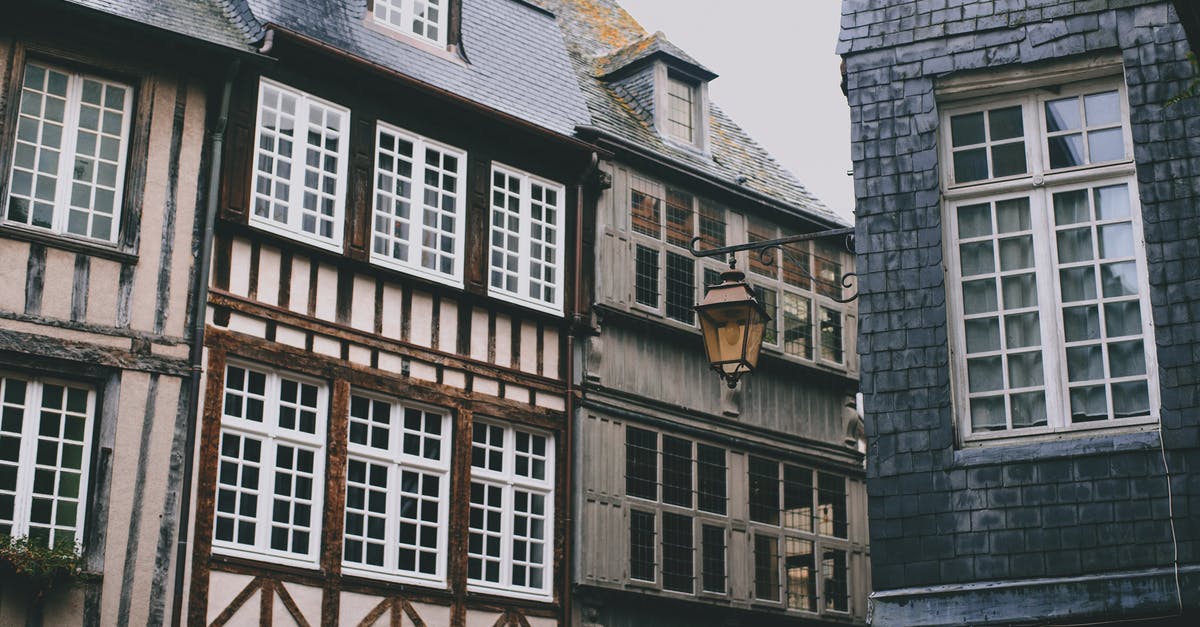
[[250,222],[323,249],[342,249],[350,112],[262,78]]

